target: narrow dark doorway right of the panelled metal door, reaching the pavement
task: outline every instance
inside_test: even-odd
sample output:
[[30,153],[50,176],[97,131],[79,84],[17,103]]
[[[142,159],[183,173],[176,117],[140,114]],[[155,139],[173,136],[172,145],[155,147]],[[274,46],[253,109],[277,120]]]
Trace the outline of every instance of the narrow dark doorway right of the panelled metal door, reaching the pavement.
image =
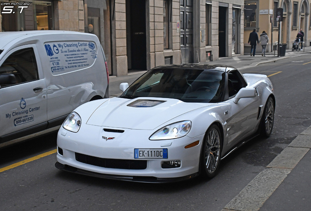
[[218,26],[218,46],[219,46],[219,57],[226,56],[226,21],[227,21],[227,8],[226,7],[219,7],[219,26]]

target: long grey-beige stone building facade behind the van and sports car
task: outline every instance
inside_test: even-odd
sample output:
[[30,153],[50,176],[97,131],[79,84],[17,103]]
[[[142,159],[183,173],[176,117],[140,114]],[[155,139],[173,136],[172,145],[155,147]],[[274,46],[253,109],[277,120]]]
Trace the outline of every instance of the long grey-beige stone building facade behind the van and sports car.
[[[4,3],[0,0],[1,12]],[[3,5],[2,5],[3,2]],[[1,13],[1,31],[97,35],[111,75],[244,54],[244,0],[28,0]]]

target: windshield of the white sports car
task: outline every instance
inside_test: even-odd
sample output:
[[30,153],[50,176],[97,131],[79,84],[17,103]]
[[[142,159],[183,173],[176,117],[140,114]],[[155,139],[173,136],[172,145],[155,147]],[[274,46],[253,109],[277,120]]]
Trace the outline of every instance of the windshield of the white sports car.
[[174,98],[184,102],[218,103],[224,95],[225,73],[201,69],[153,69],[120,97]]

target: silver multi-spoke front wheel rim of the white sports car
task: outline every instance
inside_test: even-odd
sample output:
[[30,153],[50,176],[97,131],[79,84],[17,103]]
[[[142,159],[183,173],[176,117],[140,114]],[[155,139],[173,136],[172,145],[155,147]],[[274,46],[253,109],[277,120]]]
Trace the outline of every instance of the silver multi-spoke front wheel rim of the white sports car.
[[207,135],[205,142],[205,167],[208,173],[214,173],[220,159],[220,136],[216,128],[213,128]]

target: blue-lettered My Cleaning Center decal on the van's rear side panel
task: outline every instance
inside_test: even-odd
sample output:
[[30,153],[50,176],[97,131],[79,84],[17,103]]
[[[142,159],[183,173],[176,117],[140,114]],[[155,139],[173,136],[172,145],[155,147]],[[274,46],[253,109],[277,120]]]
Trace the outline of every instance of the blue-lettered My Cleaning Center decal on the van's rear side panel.
[[97,58],[95,42],[46,42],[44,48],[53,75],[87,68]]

